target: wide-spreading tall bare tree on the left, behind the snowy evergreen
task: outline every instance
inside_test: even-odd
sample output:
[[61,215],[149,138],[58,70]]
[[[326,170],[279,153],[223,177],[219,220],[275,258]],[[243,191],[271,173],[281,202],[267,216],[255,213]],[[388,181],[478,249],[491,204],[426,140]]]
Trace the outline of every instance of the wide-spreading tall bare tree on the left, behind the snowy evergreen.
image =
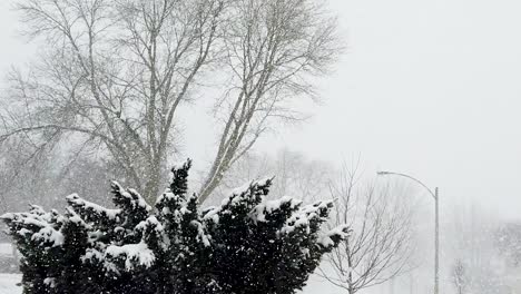
[[3,137],[38,135],[46,145],[73,134],[155,197],[176,110],[209,62],[223,8],[222,0],[21,1],[28,32],[47,50],[28,78],[11,76],[19,107],[6,111]]

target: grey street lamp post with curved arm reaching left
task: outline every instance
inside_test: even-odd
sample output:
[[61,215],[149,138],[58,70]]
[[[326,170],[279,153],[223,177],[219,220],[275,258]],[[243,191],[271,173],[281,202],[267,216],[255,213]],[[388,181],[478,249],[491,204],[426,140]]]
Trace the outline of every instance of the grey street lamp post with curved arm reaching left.
[[432,192],[425,184],[420,182],[417,178],[412,176],[400,174],[400,173],[392,173],[392,171],[377,171],[379,176],[401,176],[412,179],[413,182],[420,184],[420,186],[424,187],[429,194],[434,198],[434,294],[440,293],[440,197],[438,187],[434,188]]

